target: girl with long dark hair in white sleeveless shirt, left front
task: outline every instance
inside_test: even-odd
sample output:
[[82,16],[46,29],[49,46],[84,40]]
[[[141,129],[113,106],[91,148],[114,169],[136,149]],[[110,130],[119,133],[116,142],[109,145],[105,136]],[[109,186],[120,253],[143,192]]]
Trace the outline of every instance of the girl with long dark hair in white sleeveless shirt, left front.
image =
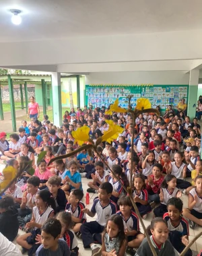
[[26,228],[28,230],[32,228],[32,231],[18,236],[16,239],[18,245],[22,246],[22,253],[28,250],[29,255],[35,253],[38,248],[35,239],[36,235],[41,232],[40,228],[48,218],[53,218],[56,212],[55,199],[45,189],[36,193],[35,202],[36,206],[33,207],[32,220],[26,224]]

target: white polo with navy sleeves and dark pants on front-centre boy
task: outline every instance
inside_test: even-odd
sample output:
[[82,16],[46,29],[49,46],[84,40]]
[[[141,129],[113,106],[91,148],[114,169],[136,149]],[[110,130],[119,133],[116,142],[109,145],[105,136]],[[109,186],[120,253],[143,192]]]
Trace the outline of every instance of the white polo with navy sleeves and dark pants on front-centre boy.
[[109,200],[108,205],[102,206],[99,199],[94,200],[91,212],[97,214],[96,221],[85,222],[81,225],[81,235],[83,240],[83,247],[88,248],[90,244],[94,243],[93,234],[96,233],[97,241],[102,244],[101,232],[104,230],[106,222],[112,214],[116,214],[116,203]]

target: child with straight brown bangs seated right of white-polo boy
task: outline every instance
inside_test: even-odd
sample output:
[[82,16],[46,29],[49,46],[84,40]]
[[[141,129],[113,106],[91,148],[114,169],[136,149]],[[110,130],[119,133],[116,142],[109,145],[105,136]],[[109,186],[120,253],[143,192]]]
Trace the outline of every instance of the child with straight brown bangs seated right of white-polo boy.
[[116,212],[116,214],[123,219],[125,235],[128,241],[127,246],[131,247],[131,249],[138,248],[145,236],[139,230],[139,218],[132,210],[131,199],[127,195],[123,195],[119,198],[118,205],[120,211]]

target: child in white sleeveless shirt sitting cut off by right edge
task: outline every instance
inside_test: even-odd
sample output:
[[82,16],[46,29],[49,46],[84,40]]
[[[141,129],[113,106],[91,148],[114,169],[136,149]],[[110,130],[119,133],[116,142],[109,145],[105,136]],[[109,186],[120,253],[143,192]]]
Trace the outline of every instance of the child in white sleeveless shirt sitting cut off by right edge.
[[202,226],[202,176],[199,175],[195,179],[196,187],[189,191],[188,208],[183,209],[183,215],[189,219],[191,228],[195,228],[197,224]]

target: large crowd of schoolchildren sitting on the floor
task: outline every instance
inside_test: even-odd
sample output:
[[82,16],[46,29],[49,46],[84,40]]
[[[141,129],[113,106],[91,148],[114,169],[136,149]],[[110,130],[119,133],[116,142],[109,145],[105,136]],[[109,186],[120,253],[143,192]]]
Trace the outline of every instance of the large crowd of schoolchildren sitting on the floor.
[[[197,119],[191,122],[182,113],[174,115],[172,106],[164,117],[140,114],[135,127],[129,114],[108,116],[104,106],[71,108],[63,118],[61,127],[50,123],[47,115],[42,122],[32,118],[28,126],[22,121],[19,134],[11,134],[9,142],[7,134],[0,133],[0,161],[18,169],[24,160],[32,160],[35,170],[33,176],[24,172],[5,191],[0,200],[0,232],[13,241],[18,228],[24,230],[17,243],[28,255],[76,256],[76,236],[84,248],[92,249],[92,256],[122,256],[126,251],[152,255],[121,187],[121,183],[129,187],[132,182],[141,218],[154,209],[155,218],[147,230],[158,255],[181,253],[189,243],[189,226],[202,226],[201,127]],[[108,129],[106,119],[124,128],[112,143],[102,142],[97,148],[115,176],[96,152],[92,158],[86,150],[47,166],[55,156],[79,147],[72,131],[88,125],[90,138],[96,141]],[[46,156],[36,164],[35,156],[42,151]],[[81,201],[83,177],[89,179],[88,193],[98,194],[91,210]],[[182,193],[188,195],[188,208],[183,209]],[[96,220],[86,221],[87,215],[93,218],[96,214]],[[185,255],[193,255],[191,249]]]

